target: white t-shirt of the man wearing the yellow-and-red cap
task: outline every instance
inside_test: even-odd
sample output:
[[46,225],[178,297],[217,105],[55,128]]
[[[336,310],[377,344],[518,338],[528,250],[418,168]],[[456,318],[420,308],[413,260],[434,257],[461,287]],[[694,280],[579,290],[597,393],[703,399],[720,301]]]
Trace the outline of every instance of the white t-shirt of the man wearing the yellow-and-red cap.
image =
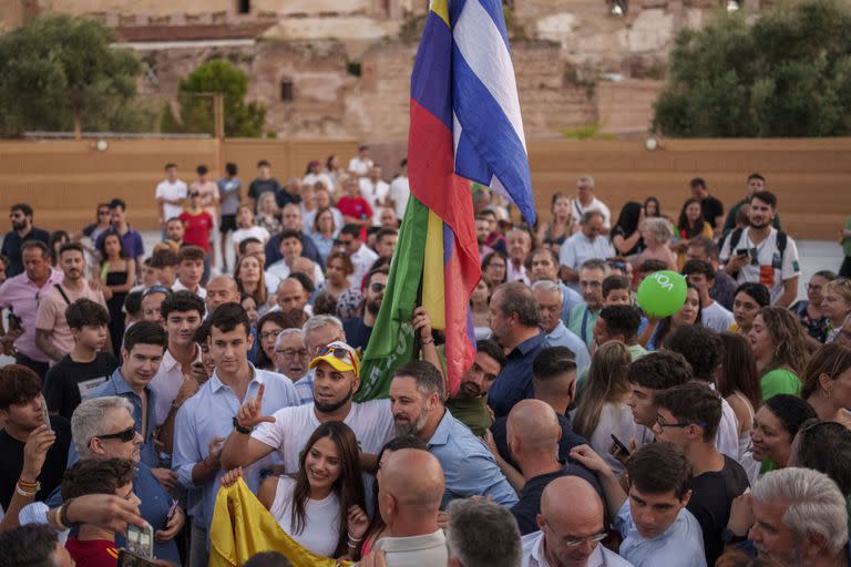
[[[390,400],[352,403],[342,422],[351,427],[358,446],[365,453],[378,454],[393,437],[393,414]],[[252,437],[278,450],[288,474],[298,471],[298,455],[314,430],[319,426],[314,404],[284,408],[275,412],[275,423],[262,423]]]

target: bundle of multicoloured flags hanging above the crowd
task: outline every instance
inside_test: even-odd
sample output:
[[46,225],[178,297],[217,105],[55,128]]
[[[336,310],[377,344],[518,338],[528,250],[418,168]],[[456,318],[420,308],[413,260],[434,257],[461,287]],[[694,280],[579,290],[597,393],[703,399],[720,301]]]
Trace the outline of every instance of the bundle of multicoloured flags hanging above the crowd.
[[455,392],[472,364],[470,293],[481,278],[470,182],[535,221],[523,121],[500,0],[432,0],[411,75],[411,197],[361,370],[360,401],[387,396],[413,355],[419,302],[445,332]]

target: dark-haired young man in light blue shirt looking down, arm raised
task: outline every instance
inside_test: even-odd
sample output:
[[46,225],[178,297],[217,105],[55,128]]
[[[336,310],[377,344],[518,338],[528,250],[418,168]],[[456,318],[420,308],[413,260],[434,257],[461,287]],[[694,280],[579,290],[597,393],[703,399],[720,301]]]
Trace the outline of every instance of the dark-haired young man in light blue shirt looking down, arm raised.
[[686,509],[691,497],[688,461],[674,443],[648,443],[629,462],[629,494],[605,461],[582,445],[571,456],[594,471],[606,494],[621,556],[635,567],[706,567],[700,524]]

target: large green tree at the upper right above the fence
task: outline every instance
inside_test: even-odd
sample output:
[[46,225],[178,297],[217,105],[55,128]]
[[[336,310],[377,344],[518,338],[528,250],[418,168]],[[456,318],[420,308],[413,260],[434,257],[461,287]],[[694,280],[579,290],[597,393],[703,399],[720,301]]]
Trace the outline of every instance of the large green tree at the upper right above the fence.
[[669,136],[851,134],[851,9],[778,6],[752,24],[719,13],[676,40],[653,126]]

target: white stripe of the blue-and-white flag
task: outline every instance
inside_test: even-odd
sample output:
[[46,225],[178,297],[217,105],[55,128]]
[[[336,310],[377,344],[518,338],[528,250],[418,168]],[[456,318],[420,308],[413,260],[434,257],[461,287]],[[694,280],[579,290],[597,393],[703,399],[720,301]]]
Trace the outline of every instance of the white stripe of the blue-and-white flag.
[[464,3],[452,30],[452,37],[464,61],[500,105],[525,150],[526,138],[523,134],[523,118],[520,115],[511,54],[500,30],[479,0],[468,0]]

